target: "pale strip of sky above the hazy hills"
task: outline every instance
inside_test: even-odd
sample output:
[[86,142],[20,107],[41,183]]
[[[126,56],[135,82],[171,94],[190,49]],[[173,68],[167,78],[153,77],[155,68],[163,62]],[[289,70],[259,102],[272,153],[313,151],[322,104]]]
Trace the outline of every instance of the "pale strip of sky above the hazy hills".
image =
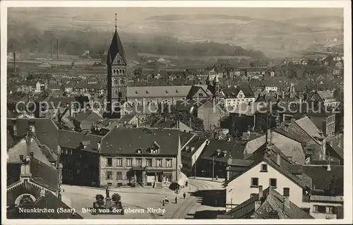
[[292,18],[310,18],[321,16],[342,16],[340,8],[10,8],[9,13],[21,12],[22,16],[45,11],[66,16],[76,16],[76,19],[114,20],[144,20],[149,16],[183,15],[183,14],[222,14],[228,16],[249,16],[270,20],[285,20]]

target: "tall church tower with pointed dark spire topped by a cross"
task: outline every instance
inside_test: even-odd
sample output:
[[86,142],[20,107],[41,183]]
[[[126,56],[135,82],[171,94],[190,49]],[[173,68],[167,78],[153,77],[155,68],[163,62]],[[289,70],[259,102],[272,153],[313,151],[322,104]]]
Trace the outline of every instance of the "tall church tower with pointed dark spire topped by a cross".
[[107,54],[107,117],[120,118],[121,106],[126,102],[126,57],[118,34],[115,13],[115,32]]

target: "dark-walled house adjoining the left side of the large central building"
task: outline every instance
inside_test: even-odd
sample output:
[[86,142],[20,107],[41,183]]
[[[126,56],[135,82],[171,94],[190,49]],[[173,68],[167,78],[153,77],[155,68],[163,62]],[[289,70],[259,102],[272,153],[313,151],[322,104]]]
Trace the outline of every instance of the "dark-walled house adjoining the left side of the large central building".
[[59,130],[62,182],[76,186],[99,186],[99,150],[102,136]]

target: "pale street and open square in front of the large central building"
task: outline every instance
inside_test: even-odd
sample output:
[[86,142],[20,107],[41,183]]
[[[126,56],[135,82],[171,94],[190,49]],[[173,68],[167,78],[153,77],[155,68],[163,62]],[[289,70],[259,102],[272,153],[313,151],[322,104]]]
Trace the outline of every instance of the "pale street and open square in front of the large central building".
[[[191,194],[197,190],[220,189],[221,183],[207,180],[189,179],[189,186],[182,188],[177,195],[169,189],[154,188],[111,188],[111,196],[114,193],[121,195],[124,207],[124,215],[119,214],[96,214],[83,212],[86,207],[92,207],[95,195],[101,194],[105,197],[105,190],[100,188],[87,188],[79,186],[64,185],[63,197],[71,199],[72,207],[76,209],[85,219],[185,219],[192,217],[201,207],[200,197]],[[186,193],[186,199],[183,194]],[[169,203],[162,206],[162,200],[167,197]],[[175,204],[175,197],[178,202]],[[165,209],[165,213],[159,213]],[[189,215],[188,215],[189,214]]]

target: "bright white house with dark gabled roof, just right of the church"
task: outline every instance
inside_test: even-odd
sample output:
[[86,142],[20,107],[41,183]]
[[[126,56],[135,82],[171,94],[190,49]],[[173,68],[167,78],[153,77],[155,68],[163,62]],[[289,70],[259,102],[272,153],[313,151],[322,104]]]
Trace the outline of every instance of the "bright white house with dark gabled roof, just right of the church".
[[255,96],[253,95],[253,91],[248,85],[241,85],[239,87],[229,87],[225,90],[222,90],[225,97],[225,107],[226,108],[235,108],[238,107],[239,104],[247,103],[255,101]]

